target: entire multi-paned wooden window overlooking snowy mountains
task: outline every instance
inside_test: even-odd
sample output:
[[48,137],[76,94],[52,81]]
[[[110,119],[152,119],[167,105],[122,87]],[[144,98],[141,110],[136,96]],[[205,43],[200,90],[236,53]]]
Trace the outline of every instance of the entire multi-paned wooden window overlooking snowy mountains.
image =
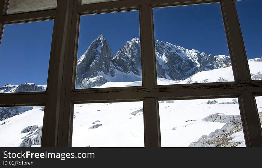
[[[2,146],[208,146],[204,137],[235,122],[233,132],[214,138],[224,142],[213,146],[262,147],[262,83],[251,80],[261,66],[248,61],[259,57],[260,32],[252,30],[260,16],[255,7],[239,6],[255,0],[21,0],[16,7],[11,1],[0,2],[0,81],[10,84],[1,88],[0,136],[11,134],[2,132],[9,126],[16,133]],[[19,33],[22,26],[26,34]],[[181,55],[182,47],[197,56]],[[96,56],[107,59],[94,61]],[[113,80],[110,72],[123,76]],[[13,85],[28,82],[46,91],[14,92]],[[3,114],[7,108],[11,116]],[[37,119],[21,118],[29,113]],[[210,115],[236,120],[202,121]],[[201,125],[206,129],[197,129]],[[35,141],[41,127],[41,141]],[[31,131],[21,133],[24,128]]]

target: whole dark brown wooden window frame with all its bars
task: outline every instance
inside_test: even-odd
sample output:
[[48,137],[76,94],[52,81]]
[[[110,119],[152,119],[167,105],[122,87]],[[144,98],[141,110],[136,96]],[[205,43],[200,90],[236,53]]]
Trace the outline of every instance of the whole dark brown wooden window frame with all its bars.
[[[71,147],[75,103],[144,102],[145,147],[161,147],[160,100],[238,98],[247,147],[262,147],[255,96],[262,81],[252,81],[234,0],[121,0],[81,5],[58,0],[57,9],[5,15],[9,0],[0,2],[0,41],[4,24],[54,19],[46,92],[0,94],[0,106],[45,106],[41,147]],[[154,7],[219,2],[235,81],[157,86]],[[75,89],[80,15],[139,10],[142,86]]]

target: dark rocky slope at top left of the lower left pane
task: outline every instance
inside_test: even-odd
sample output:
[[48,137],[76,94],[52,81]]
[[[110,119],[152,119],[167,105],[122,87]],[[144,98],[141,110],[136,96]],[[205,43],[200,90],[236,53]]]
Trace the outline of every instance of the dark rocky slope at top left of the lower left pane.
[[0,107],[0,121],[32,109],[33,107]]

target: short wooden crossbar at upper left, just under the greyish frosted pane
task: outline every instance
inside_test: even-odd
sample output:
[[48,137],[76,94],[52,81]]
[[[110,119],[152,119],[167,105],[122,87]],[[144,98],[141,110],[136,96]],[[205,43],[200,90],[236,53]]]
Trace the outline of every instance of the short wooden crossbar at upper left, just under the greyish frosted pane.
[[28,13],[19,13],[13,15],[3,15],[2,22],[4,24],[13,24],[13,23],[25,23],[33,21],[43,21],[54,19],[56,15],[56,9],[54,10],[44,10],[37,12],[28,12]]

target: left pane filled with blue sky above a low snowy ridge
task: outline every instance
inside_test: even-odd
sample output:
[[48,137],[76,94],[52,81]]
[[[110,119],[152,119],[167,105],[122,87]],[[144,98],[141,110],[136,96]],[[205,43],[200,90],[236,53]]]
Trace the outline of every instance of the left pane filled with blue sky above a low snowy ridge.
[[53,24],[50,20],[4,26],[0,93],[46,91]]

